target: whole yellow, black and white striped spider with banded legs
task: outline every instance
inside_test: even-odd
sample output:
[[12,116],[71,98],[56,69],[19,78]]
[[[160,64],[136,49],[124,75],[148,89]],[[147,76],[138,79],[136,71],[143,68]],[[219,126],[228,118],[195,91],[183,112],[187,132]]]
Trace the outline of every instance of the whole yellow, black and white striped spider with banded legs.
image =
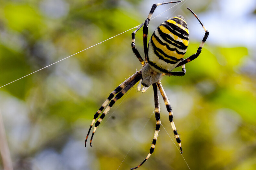
[[[201,49],[209,35],[209,32],[206,30],[206,28],[204,27],[200,19],[196,16],[196,14],[187,7],[188,10],[197,18],[197,20],[200,22],[201,26],[205,31],[201,44],[195,54],[191,55],[186,59],[183,59],[189,44],[189,31],[188,31],[187,23],[183,16],[175,16],[163,22],[159,27],[156,28],[156,30],[154,31],[154,33],[152,34],[149,40],[149,43],[147,42],[148,24],[156,7],[159,5],[164,5],[169,3],[178,3],[178,2],[181,2],[181,1],[153,4],[150,10],[150,13],[148,15],[148,18],[135,31],[132,32],[131,34],[132,51],[139,59],[142,65],[142,69],[140,69],[139,71],[136,71],[131,77],[129,77],[124,82],[122,82],[114,91],[110,93],[107,100],[103,103],[103,105],[99,108],[99,110],[94,114],[93,120],[91,122],[91,126],[86,136],[85,147],[86,147],[86,142],[90,134],[91,128],[95,120],[100,115],[100,113],[104,110],[104,108],[105,108],[104,112],[102,112],[100,118],[95,123],[94,129],[91,135],[90,145],[92,142],[92,137],[97,127],[102,122],[103,118],[108,113],[110,108],[138,81],[140,81],[138,84],[138,90],[139,91],[142,90],[142,92],[145,92],[149,88],[149,86],[152,85],[153,93],[154,93],[154,103],[155,103],[155,119],[156,119],[155,133],[154,133],[149,154],[142,161],[140,165],[131,169],[136,169],[140,167],[154,152],[159,128],[161,125],[158,89],[165,102],[167,112],[169,112],[169,121],[171,123],[176,141],[179,145],[180,153],[182,154],[180,138],[177,133],[175,124],[173,122],[172,108],[165,94],[163,86],[160,82],[160,79],[162,76],[184,76],[186,73],[185,64],[187,64],[188,62],[194,60],[199,56],[199,54],[201,53]],[[145,61],[142,59],[139,51],[135,47],[135,34],[142,26],[143,26],[143,48],[144,48]],[[171,72],[174,68],[180,67],[180,66],[182,66],[182,71]]]

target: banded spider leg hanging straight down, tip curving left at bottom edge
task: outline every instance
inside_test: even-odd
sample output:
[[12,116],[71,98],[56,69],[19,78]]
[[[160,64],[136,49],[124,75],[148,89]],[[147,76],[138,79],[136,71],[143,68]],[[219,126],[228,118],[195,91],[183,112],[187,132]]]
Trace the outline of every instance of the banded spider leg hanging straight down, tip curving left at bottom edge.
[[156,140],[157,140],[157,136],[159,133],[159,128],[161,126],[161,121],[160,121],[160,107],[159,107],[159,96],[158,96],[158,90],[157,90],[157,85],[156,83],[152,84],[153,86],[153,91],[154,91],[154,101],[155,101],[155,119],[156,119],[156,127],[155,127],[155,133],[154,133],[154,138],[153,138],[153,142],[150,148],[150,152],[147,155],[147,157],[142,161],[142,163],[134,168],[131,169],[136,169],[138,167],[140,167],[142,164],[144,164],[144,162],[146,162],[146,160],[150,157],[150,155],[154,152],[155,149],[155,144],[156,144]]

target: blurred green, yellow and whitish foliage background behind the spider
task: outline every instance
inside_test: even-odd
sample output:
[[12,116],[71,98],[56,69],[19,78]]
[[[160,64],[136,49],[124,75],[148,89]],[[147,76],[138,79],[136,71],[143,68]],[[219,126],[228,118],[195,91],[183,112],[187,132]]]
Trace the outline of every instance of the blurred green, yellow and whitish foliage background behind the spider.
[[[155,2],[2,0],[0,86],[138,26]],[[153,17],[171,6],[157,7]],[[150,35],[167,18],[184,16],[190,34],[186,57],[196,52],[204,35],[187,6],[210,35],[200,57],[186,65],[185,76],[161,81],[188,165],[172,142],[160,96],[165,129],[160,128],[155,152],[140,170],[256,169],[256,2],[184,0],[152,19]],[[143,94],[136,86],[129,90],[97,129],[94,147],[84,147],[94,113],[141,69],[130,47],[131,32],[0,88],[14,169],[121,170],[146,157],[156,123],[152,87]],[[143,54],[142,31],[136,36]],[[1,155],[0,169],[7,157]]]

